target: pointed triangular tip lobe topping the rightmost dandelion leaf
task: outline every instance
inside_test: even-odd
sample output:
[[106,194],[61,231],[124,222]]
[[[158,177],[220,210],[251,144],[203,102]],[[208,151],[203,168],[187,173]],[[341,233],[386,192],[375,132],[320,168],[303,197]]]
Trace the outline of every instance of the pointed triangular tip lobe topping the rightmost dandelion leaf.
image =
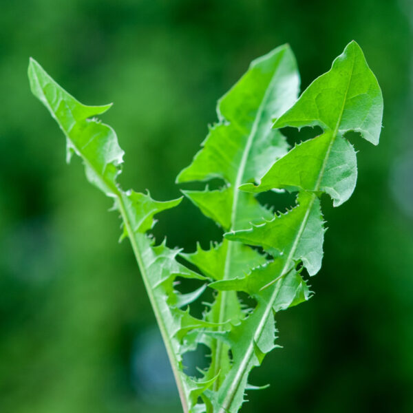
[[315,79],[274,127],[315,126],[343,136],[347,131],[379,143],[383,96],[360,46],[350,42],[332,63],[331,70]]

